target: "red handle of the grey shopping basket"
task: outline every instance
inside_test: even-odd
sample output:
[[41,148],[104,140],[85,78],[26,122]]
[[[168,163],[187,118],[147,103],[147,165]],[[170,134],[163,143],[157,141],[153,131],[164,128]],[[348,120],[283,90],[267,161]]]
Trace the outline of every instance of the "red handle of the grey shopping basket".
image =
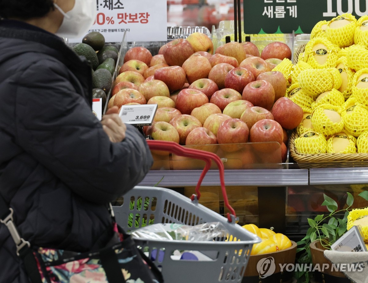
[[[229,204],[229,199],[227,198],[226,194],[226,188],[225,188],[225,181],[224,181],[224,165],[215,153],[202,151],[200,149],[194,149],[194,148],[185,148],[184,146],[181,146],[177,144],[176,142],[171,141],[159,141],[159,140],[152,140],[148,139],[147,144],[151,150],[161,150],[161,151],[168,151],[175,153],[179,156],[194,158],[194,159],[201,159],[206,162],[206,166],[203,169],[201,176],[199,177],[197,186],[195,187],[195,192],[197,193],[197,199],[201,197],[201,192],[199,191],[199,188],[201,187],[202,180],[204,176],[206,175],[207,171],[209,170],[211,166],[211,160],[215,161],[217,164],[217,167],[219,168],[220,173],[220,184],[221,184],[221,191],[222,195],[224,197],[224,204],[229,209],[230,213],[234,215],[234,219],[236,217],[234,209]],[[191,197],[192,201],[194,199],[194,196]],[[227,219],[229,222],[232,222],[232,219],[230,217],[230,213],[227,213]]]

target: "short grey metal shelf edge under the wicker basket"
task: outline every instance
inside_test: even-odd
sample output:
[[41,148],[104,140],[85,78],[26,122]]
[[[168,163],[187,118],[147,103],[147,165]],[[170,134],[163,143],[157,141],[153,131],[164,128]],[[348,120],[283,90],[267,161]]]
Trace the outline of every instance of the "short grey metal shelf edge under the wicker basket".
[[309,169],[309,184],[368,184],[368,168],[311,168]]

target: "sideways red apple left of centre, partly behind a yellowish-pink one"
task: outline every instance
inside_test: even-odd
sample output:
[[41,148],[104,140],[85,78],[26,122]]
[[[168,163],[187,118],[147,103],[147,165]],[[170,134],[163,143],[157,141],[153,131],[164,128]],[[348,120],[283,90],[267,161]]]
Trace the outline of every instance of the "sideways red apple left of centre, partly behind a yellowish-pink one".
[[170,92],[181,89],[187,79],[184,69],[179,66],[159,68],[155,71],[153,78],[163,81],[169,88]]

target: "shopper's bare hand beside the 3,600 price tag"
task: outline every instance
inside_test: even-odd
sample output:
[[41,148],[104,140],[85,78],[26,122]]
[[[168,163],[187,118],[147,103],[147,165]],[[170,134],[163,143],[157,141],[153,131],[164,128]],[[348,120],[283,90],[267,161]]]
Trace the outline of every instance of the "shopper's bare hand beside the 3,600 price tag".
[[102,116],[101,124],[103,130],[109,136],[111,142],[121,142],[125,139],[127,126],[118,115],[119,108],[113,106]]

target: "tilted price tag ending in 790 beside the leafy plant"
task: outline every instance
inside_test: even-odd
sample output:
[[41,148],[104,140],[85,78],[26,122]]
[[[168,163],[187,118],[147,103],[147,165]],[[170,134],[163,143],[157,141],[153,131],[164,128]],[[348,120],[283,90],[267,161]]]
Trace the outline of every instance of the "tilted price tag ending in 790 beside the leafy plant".
[[343,236],[331,245],[333,251],[366,252],[363,238],[358,226],[351,227]]

